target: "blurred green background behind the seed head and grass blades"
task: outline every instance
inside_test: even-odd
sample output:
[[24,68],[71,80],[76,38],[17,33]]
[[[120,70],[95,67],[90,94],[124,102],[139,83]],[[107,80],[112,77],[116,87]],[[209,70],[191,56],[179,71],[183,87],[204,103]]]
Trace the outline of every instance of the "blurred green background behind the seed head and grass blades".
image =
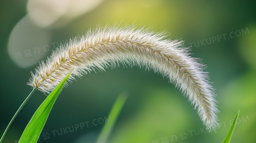
[[[90,27],[118,22],[154,26],[156,31],[170,32],[168,38],[192,46],[191,56],[207,64],[205,71],[216,89],[220,129],[207,133],[188,99],[162,75],[120,66],[76,78],[64,88],[40,143],[94,142],[103,126],[102,119],[110,119],[108,113],[123,91],[129,97],[111,134],[111,143],[220,143],[238,109],[240,116],[231,143],[256,142],[255,0],[0,1],[0,134],[31,92],[26,83],[38,61],[45,61],[60,43],[82,35]],[[3,143],[19,139],[45,98],[40,91],[32,95]],[[63,128],[72,129],[84,122],[88,128],[85,125],[64,134]]]

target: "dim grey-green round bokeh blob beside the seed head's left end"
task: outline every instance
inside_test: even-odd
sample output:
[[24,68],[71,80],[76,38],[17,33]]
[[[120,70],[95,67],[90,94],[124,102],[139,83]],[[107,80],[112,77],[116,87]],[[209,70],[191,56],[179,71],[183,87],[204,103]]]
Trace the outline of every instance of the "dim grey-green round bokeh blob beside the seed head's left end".
[[50,38],[50,30],[37,27],[29,16],[25,16],[11,31],[8,54],[19,67],[30,67],[51,52],[47,47]]

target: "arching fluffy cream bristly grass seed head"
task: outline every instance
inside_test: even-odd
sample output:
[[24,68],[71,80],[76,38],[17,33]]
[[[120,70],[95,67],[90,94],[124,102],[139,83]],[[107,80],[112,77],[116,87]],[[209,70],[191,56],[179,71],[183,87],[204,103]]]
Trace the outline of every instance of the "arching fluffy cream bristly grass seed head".
[[182,41],[164,40],[165,32],[135,26],[106,26],[89,30],[56,49],[46,62],[40,63],[28,85],[50,93],[73,70],[69,81],[90,71],[104,71],[120,63],[138,65],[167,76],[197,108],[208,130],[217,125],[217,101],[208,75],[198,59],[189,56]]

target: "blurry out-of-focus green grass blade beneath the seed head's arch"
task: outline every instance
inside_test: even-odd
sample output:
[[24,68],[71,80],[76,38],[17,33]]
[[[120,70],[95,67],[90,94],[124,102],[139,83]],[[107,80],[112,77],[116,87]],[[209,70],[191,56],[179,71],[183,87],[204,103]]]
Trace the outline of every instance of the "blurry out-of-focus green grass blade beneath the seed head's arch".
[[125,93],[121,93],[118,96],[115,104],[113,105],[113,107],[109,113],[109,116],[111,116],[111,118],[112,118],[112,122],[104,124],[96,143],[106,143],[106,141],[109,138],[109,135],[112,133],[112,130],[115,126],[115,123],[117,121],[119,113],[120,113],[126,99],[127,99],[127,94],[125,94]]

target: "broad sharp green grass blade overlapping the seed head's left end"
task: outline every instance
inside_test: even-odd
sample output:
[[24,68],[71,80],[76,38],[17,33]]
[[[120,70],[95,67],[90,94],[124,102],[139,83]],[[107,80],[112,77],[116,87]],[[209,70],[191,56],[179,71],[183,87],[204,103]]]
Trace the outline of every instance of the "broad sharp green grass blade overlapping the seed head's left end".
[[45,122],[52,110],[53,104],[57,99],[62,87],[67,81],[69,73],[64,80],[51,92],[51,94],[43,101],[43,103],[35,111],[34,115],[30,119],[27,127],[22,133],[19,143],[36,143],[39,135],[41,134]]

